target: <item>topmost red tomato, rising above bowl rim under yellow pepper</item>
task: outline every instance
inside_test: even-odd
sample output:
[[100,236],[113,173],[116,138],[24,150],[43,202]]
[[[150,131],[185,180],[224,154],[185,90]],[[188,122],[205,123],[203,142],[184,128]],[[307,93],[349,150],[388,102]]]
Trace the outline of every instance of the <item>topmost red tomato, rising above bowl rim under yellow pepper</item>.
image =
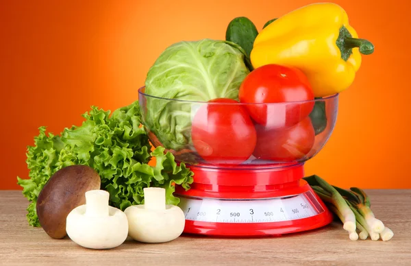
[[269,128],[289,128],[308,117],[314,101],[314,93],[308,78],[299,69],[266,64],[254,69],[245,77],[238,95],[242,103],[283,103],[251,104],[247,109],[254,121]]

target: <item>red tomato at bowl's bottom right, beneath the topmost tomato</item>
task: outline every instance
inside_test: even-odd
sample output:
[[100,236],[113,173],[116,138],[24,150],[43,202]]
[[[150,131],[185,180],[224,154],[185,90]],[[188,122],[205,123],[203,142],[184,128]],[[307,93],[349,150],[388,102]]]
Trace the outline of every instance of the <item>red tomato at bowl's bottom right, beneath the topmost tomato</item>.
[[306,156],[315,141],[314,127],[310,117],[297,123],[292,128],[266,130],[258,125],[257,144],[253,155],[262,160],[292,162]]

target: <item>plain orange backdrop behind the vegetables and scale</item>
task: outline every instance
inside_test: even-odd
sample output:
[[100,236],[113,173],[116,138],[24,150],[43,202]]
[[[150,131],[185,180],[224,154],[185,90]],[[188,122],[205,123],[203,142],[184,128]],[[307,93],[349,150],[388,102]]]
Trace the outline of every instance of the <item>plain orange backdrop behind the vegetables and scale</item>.
[[[82,123],[91,105],[114,110],[137,89],[161,51],[180,40],[225,38],[235,16],[258,29],[314,1],[18,1],[0,3],[0,189],[27,178],[27,145],[40,125],[50,132]],[[411,188],[410,14],[406,0],[334,1],[360,38],[363,56],[353,86],[340,95],[334,134],[306,164],[338,186]]]

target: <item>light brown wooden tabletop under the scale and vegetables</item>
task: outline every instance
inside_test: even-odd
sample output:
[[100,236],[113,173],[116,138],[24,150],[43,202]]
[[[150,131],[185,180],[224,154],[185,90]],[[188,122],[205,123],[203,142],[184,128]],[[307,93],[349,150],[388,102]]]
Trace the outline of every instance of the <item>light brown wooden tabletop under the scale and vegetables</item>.
[[367,191],[390,241],[350,241],[340,223],[257,239],[179,237],[162,244],[127,240],[113,250],[88,250],[51,239],[28,225],[21,191],[0,191],[0,265],[411,265],[411,190]]

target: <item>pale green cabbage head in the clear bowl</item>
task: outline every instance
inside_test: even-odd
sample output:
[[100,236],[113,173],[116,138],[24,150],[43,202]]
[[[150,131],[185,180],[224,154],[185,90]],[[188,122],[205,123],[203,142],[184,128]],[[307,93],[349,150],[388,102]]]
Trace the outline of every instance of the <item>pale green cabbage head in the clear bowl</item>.
[[163,51],[147,73],[147,129],[166,149],[190,147],[192,102],[238,99],[238,88],[249,73],[245,52],[224,40],[180,42]]

